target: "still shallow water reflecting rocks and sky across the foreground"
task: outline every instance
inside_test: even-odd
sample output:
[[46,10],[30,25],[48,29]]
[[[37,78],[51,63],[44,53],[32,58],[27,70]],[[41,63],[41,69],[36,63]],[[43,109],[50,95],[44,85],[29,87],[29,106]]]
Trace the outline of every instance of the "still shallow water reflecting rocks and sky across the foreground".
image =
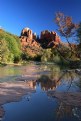
[[0,67],[0,121],[81,121],[80,92],[74,70],[37,63]]

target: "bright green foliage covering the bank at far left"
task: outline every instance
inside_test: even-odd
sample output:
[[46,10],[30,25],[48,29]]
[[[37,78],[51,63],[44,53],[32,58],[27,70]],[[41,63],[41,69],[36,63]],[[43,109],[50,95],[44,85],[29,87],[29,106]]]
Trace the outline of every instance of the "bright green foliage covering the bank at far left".
[[[21,58],[19,38],[4,30],[0,30],[0,41],[2,43],[1,53],[3,54],[3,50],[5,50],[5,62],[18,62]],[[2,59],[1,62],[3,62]]]

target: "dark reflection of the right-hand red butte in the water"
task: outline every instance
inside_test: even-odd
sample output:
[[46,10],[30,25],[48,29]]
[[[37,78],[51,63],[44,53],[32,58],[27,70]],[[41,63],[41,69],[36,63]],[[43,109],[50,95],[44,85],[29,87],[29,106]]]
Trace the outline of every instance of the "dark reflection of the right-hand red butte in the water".
[[55,90],[60,84],[66,73],[55,72],[53,75],[42,75],[37,82],[40,82],[43,90]]

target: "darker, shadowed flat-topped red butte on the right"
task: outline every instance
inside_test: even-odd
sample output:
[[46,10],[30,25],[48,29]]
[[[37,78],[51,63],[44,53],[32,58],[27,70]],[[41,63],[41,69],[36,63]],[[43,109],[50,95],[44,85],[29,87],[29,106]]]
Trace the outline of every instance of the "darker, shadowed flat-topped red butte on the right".
[[61,43],[60,37],[54,31],[42,31],[40,35],[40,43],[43,48],[51,48]]

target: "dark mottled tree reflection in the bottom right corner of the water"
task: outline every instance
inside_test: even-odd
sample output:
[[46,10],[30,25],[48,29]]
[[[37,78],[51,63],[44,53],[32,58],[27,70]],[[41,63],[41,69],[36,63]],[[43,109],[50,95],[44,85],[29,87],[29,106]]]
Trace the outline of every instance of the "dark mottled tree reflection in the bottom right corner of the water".
[[61,102],[57,109],[56,121],[61,121],[64,117],[71,119],[73,116],[81,121],[81,107],[74,107]]

